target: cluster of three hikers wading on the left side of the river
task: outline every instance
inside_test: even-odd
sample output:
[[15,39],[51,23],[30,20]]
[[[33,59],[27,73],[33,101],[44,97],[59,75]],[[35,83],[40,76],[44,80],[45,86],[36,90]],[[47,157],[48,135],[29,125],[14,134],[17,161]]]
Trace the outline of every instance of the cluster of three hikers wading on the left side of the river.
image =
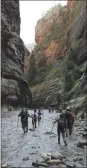
[[19,113],[18,117],[21,117],[21,124],[22,124],[22,129],[24,133],[28,132],[28,117],[32,119],[32,125],[33,129],[37,127],[37,121],[38,123],[41,121],[41,110],[39,109],[38,112],[35,109],[34,114],[30,115],[28,113],[28,110],[26,108],[23,108],[21,112]]

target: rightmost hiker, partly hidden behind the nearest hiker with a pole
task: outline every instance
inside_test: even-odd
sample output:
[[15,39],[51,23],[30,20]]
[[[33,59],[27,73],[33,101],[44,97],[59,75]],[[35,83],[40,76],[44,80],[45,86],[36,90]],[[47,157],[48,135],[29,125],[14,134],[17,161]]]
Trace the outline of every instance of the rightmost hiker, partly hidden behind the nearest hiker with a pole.
[[67,107],[66,112],[65,112],[65,127],[66,129],[69,130],[69,135],[71,135],[72,127],[73,127],[73,115],[71,113],[70,107]]

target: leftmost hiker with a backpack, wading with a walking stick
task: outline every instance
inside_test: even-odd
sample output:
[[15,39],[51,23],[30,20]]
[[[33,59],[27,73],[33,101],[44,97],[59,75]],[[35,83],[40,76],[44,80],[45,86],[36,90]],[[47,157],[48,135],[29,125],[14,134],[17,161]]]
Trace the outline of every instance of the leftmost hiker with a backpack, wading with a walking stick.
[[24,133],[27,133],[28,132],[28,117],[30,117],[27,109],[23,108],[21,112],[19,113],[18,117],[21,117],[22,129]]

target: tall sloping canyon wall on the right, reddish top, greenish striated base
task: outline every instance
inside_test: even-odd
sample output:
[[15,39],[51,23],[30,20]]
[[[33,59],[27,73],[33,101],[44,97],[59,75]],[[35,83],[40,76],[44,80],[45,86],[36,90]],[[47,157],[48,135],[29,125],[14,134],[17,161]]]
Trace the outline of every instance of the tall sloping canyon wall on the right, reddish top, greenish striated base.
[[[76,99],[78,102],[80,97],[84,98],[84,96],[87,96],[87,5],[86,1],[68,1],[67,7],[69,10],[66,10],[65,7],[61,8],[61,15],[53,15],[53,22],[51,22],[52,17],[50,18],[49,16],[49,19],[47,18],[47,20],[51,22],[50,25],[52,29],[49,30],[45,22],[41,29],[41,20],[37,23],[36,60],[38,62],[43,55],[43,57],[46,56],[50,58],[53,64],[45,78],[35,86],[32,86],[31,90],[34,102],[56,103],[58,93],[61,94],[62,98],[65,94],[64,99],[69,95],[69,101],[75,100],[75,102]],[[59,17],[56,18],[56,16]],[[47,26],[47,32],[44,31],[46,30],[44,28],[45,26]],[[74,79],[71,90],[69,92],[64,92],[64,73],[68,65],[67,60],[71,61],[81,74],[80,76],[78,74],[78,78],[76,77]],[[68,73],[70,73],[70,69],[68,69],[67,74]],[[71,71],[71,76],[73,76],[73,73],[74,70]],[[80,105],[81,103],[82,102],[80,102]],[[77,105],[78,104],[79,103],[77,103]]]

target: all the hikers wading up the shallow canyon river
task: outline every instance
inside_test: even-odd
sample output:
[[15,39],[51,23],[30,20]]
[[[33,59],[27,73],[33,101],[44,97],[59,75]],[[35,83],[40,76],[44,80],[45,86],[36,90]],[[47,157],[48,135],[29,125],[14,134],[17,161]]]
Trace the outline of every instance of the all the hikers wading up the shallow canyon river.
[[[41,109],[38,111],[35,109],[32,115],[28,113],[26,108],[22,109],[18,117],[21,117],[22,129],[24,133],[28,132],[28,117],[32,119],[32,126],[33,129],[35,129],[37,127],[37,121],[38,123],[41,121],[41,115]],[[61,111],[60,116],[53,122],[53,125],[57,123],[58,144],[60,144],[60,135],[62,134],[64,144],[67,146],[66,137],[68,134],[72,134],[74,119],[75,114],[72,112],[70,107],[67,107]]]

